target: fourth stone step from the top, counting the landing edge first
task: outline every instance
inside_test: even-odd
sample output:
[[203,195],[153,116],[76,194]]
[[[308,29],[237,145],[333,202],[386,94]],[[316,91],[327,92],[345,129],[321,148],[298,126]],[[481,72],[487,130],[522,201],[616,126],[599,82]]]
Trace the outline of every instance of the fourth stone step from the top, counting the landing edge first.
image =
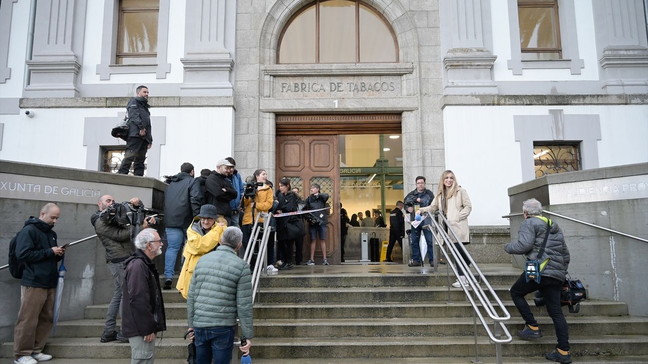
[[[543,332],[551,335],[553,323],[549,317],[538,317]],[[648,317],[581,316],[569,317],[571,335],[648,335]],[[118,322],[119,325],[119,322]],[[509,331],[522,329],[524,321],[511,319]],[[486,336],[478,322],[478,335]],[[56,326],[57,338],[101,336],[104,320],[85,319],[62,321]],[[389,336],[472,336],[471,317],[435,319],[257,319],[255,337],[389,337]],[[168,319],[165,337],[180,338],[187,331],[186,319]]]

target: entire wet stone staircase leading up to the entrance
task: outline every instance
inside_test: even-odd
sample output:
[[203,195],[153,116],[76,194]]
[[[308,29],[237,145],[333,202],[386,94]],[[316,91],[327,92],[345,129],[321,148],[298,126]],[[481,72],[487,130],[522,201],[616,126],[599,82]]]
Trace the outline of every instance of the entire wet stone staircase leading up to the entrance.
[[[295,267],[262,277],[255,303],[254,363],[470,363],[474,359],[472,307],[461,289],[448,289],[445,269],[402,265]],[[522,319],[508,288],[519,271],[510,264],[484,264],[482,271],[513,318]],[[454,280],[453,280],[454,281]],[[186,308],[177,291],[164,291],[167,332],[156,362],[186,358]],[[127,343],[100,343],[107,304],[87,306],[85,319],[58,324],[45,351],[52,363],[128,363]],[[544,308],[533,307],[545,336],[503,345],[505,363],[546,363],[555,346],[553,325]],[[565,310],[566,311],[566,310]],[[566,313],[575,363],[647,363],[648,317],[628,315],[623,302],[586,301],[581,312]],[[478,325],[478,350],[494,363],[493,344]],[[159,338],[158,338],[159,342]],[[11,358],[12,343],[0,348]],[[89,359],[91,358],[91,359]],[[3,359],[4,362],[4,359]]]

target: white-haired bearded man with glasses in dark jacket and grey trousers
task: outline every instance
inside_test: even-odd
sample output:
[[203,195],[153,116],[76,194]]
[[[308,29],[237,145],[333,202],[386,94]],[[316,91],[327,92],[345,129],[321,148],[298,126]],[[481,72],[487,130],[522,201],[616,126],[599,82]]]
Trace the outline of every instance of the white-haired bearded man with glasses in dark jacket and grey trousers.
[[135,238],[137,250],[126,260],[122,334],[130,342],[131,363],[153,364],[156,334],[167,330],[159,273],[153,262],[163,245],[157,231],[144,229]]

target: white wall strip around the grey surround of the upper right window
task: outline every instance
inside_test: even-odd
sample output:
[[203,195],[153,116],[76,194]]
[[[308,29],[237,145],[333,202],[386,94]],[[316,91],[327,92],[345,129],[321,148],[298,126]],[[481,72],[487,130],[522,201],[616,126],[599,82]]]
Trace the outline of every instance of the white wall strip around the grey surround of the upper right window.
[[493,65],[493,78],[495,81],[583,81],[599,79],[596,40],[594,38],[594,10],[591,1],[574,2],[579,58],[584,61],[581,74],[570,74],[569,69],[524,69],[521,75],[514,75],[507,64],[508,60],[511,59],[511,33],[507,1],[491,1],[492,52],[497,56],[497,60]]

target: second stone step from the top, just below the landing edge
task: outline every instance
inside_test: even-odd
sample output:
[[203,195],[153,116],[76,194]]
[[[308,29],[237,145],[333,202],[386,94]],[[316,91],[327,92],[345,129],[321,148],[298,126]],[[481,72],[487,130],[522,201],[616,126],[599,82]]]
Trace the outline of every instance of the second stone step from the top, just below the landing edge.
[[[510,297],[510,286],[493,286],[499,297]],[[452,301],[465,301],[461,288],[450,288]],[[346,288],[259,288],[258,302],[443,302],[448,299],[444,286],[346,287]]]

